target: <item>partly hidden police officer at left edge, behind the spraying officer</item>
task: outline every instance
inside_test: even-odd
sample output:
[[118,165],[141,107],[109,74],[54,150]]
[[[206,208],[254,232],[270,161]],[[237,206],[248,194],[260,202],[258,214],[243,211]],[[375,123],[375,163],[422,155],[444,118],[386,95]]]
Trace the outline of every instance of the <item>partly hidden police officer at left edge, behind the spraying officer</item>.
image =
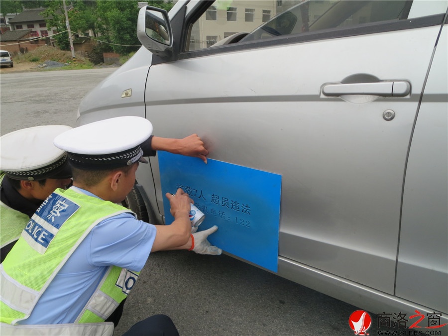
[[53,139],[64,125],[24,128],[0,137],[0,262],[40,204],[71,183],[65,151]]

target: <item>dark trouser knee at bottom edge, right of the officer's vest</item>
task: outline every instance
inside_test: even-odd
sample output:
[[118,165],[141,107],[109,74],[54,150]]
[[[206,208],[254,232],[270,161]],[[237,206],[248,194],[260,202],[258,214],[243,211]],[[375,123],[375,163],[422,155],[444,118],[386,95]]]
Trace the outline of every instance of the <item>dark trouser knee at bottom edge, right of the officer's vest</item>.
[[179,332],[168,316],[159,314],[137,322],[122,336],[179,336]]

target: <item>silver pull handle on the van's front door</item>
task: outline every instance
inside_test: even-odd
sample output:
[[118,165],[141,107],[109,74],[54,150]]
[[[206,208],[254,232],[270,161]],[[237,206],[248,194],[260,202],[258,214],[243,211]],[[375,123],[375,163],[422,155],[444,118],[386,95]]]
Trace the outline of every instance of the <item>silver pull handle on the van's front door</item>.
[[382,97],[405,97],[411,92],[408,81],[384,81],[371,83],[329,83],[322,87],[322,93],[328,97],[348,95],[368,95]]

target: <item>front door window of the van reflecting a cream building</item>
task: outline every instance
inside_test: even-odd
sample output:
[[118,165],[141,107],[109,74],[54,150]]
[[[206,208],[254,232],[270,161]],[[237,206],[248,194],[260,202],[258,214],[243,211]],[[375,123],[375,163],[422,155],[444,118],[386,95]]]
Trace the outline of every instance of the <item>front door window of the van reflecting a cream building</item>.
[[215,1],[190,26],[185,51],[224,44],[220,41],[238,33],[227,43],[406,19],[411,4],[411,0]]

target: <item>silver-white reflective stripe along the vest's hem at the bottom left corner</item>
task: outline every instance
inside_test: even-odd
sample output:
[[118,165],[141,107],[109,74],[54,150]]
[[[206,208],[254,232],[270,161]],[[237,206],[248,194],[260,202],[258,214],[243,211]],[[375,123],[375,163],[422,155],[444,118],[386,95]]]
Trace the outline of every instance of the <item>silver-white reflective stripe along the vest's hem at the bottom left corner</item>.
[[2,336],[112,336],[113,323],[83,323],[60,325],[18,325],[0,324]]

